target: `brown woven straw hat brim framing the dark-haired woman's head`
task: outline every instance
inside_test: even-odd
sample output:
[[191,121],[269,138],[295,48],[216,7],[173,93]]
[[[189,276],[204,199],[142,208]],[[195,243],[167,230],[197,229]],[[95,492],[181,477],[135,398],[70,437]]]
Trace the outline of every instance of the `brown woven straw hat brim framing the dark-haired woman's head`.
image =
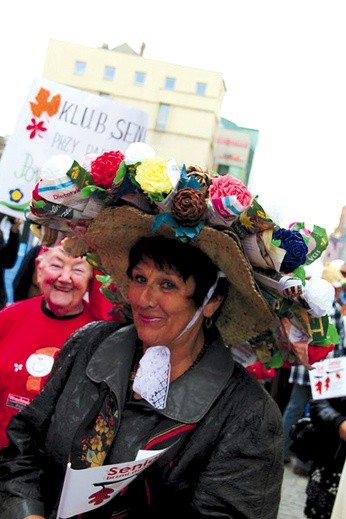
[[[173,229],[167,225],[153,233],[153,220],[154,216],[134,207],[108,207],[96,216],[86,231],[86,243],[99,255],[102,266],[125,299],[131,247],[140,237],[153,234],[176,239]],[[257,288],[252,267],[237,236],[232,232],[204,227],[190,245],[207,254],[231,284],[217,320],[225,342],[239,344],[268,330],[274,322],[274,314]]]

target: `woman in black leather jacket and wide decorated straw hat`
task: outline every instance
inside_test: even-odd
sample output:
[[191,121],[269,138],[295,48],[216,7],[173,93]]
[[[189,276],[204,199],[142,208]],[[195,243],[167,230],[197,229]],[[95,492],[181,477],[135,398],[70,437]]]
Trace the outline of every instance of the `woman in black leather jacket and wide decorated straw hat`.
[[[1,519],[276,519],[281,414],[230,348],[267,330],[273,314],[239,239],[206,223],[203,190],[189,178],[183,168],[178,197],[160,211],[146,191],[113,193],[113,206],[86,227],[83,241],[133,323],[79,330],[43,393],[13,418],[1,453]],[[114,474],[135,470],[143,450],[155,461],[137,462],[119,490]],[[68,463],[75,470],[61,496]],[[107,477],[95,472],[104,466]],[[69,478],[82,469],[87,479],[74,490]],[[83,501],[86,481],[93,491]]]

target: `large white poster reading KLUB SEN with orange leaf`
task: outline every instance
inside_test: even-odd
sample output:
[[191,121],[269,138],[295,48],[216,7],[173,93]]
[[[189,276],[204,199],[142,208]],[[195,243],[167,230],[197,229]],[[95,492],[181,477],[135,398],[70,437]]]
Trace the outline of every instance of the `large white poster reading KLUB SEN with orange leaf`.
[[145,142],[141,110],[45,79],[35,79],[0,160],[0,212],[23,217],[41,166],[53,155],[125,152]]

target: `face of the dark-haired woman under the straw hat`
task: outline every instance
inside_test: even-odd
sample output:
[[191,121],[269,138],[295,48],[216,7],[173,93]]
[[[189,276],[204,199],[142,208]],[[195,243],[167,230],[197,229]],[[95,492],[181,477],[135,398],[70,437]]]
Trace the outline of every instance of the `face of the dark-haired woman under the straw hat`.
[[196,312],[194,290],[192,276],[184,282],[174,270],[161,270],[151,259],[133,268],[128,298],[144,345],[170,346]]

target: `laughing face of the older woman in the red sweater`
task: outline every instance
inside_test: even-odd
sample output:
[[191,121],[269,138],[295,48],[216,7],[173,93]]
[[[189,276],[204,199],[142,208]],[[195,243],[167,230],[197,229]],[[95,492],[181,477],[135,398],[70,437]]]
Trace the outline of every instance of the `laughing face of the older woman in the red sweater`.
[[37,265],[37,281],[47,307],[56,315],[74,315],[83,309],[92,267],[85,258],[68,256],[60,247],[45,253]]

